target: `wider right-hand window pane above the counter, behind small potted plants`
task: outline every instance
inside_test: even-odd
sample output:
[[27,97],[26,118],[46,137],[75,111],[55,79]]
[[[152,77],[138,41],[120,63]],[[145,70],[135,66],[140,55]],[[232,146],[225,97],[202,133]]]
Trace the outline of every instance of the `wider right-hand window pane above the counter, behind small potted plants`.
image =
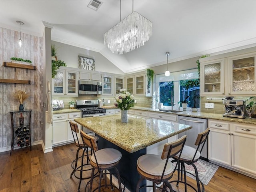
[[188,107],[199,108],[200,87],[198,79],[180,81],[180,100],[188,97]]

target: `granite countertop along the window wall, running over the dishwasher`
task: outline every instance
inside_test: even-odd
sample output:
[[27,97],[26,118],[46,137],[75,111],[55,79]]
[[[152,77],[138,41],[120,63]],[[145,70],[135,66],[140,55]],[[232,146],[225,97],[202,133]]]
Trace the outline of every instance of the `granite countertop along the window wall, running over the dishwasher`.
[[245,119],[240,119],[240,118],[232,118],[232,117],[223,117],[222,114],[192,112],[192,111],[180,111],[180,112],[174,113],[174,112],[159,111],[159,109],[143,108],[143,107],[134,107],[132,109],[144,110],[144,111],[148,111],[148,112],[159,112],[159,113],[164,113],[164,114],[176,114],[178,116],[196,117],[196,118],[203,118],[203,119],[215,119],[215,120],[238,122],[238,123],[248,123],[248,124],[256,125],[256,119],[249,118],[249,117],[246,117]]

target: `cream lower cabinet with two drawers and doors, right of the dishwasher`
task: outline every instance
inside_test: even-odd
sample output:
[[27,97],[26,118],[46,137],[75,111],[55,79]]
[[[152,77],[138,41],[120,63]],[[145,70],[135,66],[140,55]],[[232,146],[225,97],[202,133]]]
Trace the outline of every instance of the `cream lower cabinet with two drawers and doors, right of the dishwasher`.
[[210,162],[256,178],[256,126],[208,120]]

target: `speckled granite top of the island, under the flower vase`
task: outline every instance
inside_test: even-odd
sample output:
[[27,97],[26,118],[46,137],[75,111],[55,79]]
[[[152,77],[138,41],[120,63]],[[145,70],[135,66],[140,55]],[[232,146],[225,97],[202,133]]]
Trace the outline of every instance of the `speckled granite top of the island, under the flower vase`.
[[130,153],[192,128],[184,124],[130,114],[128,123],[121,123],[120,114],[76,118],[74,121]]

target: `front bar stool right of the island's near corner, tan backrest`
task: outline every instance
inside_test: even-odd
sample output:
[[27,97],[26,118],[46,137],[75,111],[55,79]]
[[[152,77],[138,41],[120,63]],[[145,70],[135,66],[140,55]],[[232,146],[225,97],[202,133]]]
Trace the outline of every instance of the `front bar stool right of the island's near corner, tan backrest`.
[[[172,162],[169,161],[169,158],[177,155],[182,152],[186,141],[186,135],[182,136],[182,138],[170,142],[164,145],[164,149],[162,152],[162,156],[154,155],[154,154],[146,154],[142,155],[137,160],[137,171],[140,174],[141,178],[137,182],[136,192],[138,192],[142,188],[153,187],[153,192],[156,192],[156,188],[159,188],[165,192],[168,192],[167,187],[170,192],[173,192],[172,186],[168,182],[170,178],[172,178],[172,174],[174,171],[174,167]],[[142,180],[149,180],[153,182],[152,186],[141,186],[140,183]],[[160,185],[164,182],[164,186],[156,186]]]

